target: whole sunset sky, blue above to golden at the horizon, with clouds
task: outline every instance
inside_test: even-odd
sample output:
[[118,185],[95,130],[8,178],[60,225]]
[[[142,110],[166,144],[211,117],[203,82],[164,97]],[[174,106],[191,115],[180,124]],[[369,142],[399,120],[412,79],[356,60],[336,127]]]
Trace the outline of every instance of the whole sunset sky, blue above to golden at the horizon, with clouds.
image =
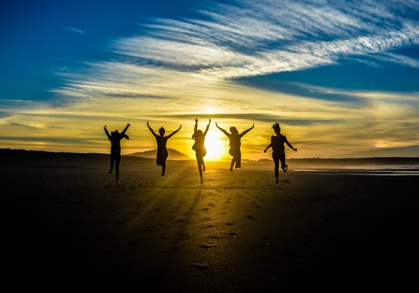
[[[0,148],[122,154],[167,147],[227,157],[215,122],[288,158],[419,146],[419,1],[2,1]],[[221,152],[221,153],[220,153]],[[416,151],[419,157],[419,151]],[[406,153],[400,151],[400,156]]]

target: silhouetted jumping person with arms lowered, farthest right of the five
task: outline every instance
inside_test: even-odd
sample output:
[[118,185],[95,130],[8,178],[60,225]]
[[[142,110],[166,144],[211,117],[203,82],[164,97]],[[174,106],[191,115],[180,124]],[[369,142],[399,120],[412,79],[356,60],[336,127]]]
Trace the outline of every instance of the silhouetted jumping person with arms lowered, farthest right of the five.
[[288,170],[288,165],[285,163],[285,146],[284,143],[288,145],[291,149],[294,151],[297,151],[297,149],[294,149],[290,142],[288,142],[285,135],[281,134],[281,127],[279,127],[278,123],[275,123],[272,126],[272,129],[274,129],[274,132],[277,135],[272,135],[270,138],[270,144],[265,149],[266,151],[272,147],[272,158],[274,159],[275,163],[275,178],[277,178],[275,183],[278,183],[278,177],[279,177],[279,161],[281,161],[281,169],[283,169],[284,172]]

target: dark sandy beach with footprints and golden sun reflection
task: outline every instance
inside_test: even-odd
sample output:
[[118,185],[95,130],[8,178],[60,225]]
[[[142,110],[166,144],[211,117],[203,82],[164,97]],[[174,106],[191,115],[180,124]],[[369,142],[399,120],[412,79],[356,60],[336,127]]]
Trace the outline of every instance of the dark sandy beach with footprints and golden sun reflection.
[[418,176],[108,156],[2,158],[3,286],[62,292],[416,287]]

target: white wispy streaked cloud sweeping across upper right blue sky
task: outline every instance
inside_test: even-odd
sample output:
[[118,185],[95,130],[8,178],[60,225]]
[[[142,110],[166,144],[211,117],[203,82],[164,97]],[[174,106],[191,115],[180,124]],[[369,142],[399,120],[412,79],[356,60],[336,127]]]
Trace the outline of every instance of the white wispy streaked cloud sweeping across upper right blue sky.
[[[114,48],[142,62],[223,78],[302,70],[333,64],[342,56],[419,44],[418,21],[391,13],[411,6],[364,1],[218,5],[217,11],[214,6],[210,12],[199,10],[207,21],[156,19],[146,25],[147,35],[120,39]],[[400,59],[416,66],[415,60],[404,57],[387,61]]]

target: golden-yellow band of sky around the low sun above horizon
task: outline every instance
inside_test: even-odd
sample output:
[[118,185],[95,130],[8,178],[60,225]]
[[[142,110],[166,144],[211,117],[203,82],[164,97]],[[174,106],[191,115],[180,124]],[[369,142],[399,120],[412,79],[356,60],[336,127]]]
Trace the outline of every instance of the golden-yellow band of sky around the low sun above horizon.
[[[205,91],[205,85],[202,88]],[[169,140],[167,147],[194,159],[191,147],[195,117],[198,117],[199,129],[205,129],[209,117],[212,120],[206,140],[207,160],[231,158],[228,138],[216,129],[215,122],[224,129],[236,126],[239,132],[254,123],[254,129],[242,138],[241,147],[242,158],[250,160],[271,158],[271,153],[263,153],[263,149],[274,134],[273,122],[281,124],[282,133],[299,149],[294,152],[286,148],[288,158],[333,158],[341,153],[378,146],[404,147],[418,143],[404,139],[414,135],[405,128],[406,122],[413,125],[419,119],[414,111],[405,111],[402,104],[390,105],[387,100],[374,99],[367,108],[351,110],[340,102],[313,102],[305,97],[278,95],[245,86],[228,84],[226,87],[221,83],[219,88],[217,91],[212,86],[210,96],[214,98],[187,95],[141,100],[91,97],[59,107],[48,104],[44,108],[39,105],[27,107],[0,119],[3,138],[8,138],[2,141],[2,148],[109,153],[110,144],[103,126],[122,130],[131,123],[127,131],[130,140],[121,142],[122,154],[148,151],[156,149],[156,141],[146,125],[149,120],[155,131],[164,126],[166,133],[182,124],[182,129]],[[393,95],[393,98],[410,100],[403,95]],[[205,103],[224,106],[218,107],[218,113],[212,113],[213,110],[202,107]],[[394,113],[398,112],[404,113],[404,119],[393,119]],[[300,124],[298,120],[313,121]]]

